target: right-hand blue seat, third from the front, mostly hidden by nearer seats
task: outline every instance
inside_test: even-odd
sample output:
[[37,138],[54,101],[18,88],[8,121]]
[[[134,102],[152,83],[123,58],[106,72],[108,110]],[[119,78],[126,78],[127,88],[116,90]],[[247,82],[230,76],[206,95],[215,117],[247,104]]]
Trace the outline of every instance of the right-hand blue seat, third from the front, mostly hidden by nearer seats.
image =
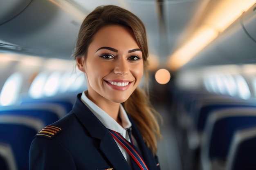
[[187,152],[192,152],[193,162],[195,162],[196,165],[200,166],[202,133],[207,117],[215,110],[233,106],[240,107],[239,105],[247,106],[252,104],[222,95],[201,95],[194,100],[189,111],[190,124],[186,133],[186,150]]

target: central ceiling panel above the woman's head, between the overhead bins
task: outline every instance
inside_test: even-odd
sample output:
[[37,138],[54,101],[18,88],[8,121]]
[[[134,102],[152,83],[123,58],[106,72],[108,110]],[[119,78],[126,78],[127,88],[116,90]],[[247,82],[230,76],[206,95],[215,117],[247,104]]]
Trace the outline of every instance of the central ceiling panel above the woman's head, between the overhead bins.
[[86,11],[92,11],[99,4],[114,4],[128,9],[145,24],[151,55],[158,57],[160,65],[165,64],[171,53],[193,32],[197,16],[203,12],[210,0],[70,0]]

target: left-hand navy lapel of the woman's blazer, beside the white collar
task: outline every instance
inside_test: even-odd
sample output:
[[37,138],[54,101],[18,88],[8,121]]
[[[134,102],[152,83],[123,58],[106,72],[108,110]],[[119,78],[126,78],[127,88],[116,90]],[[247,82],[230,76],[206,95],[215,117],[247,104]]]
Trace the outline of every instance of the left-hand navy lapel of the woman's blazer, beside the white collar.
[[108,129],[99,121],[77,95],[73,111],[93,138],[99,139],[99,149],[112,164],[114,170],[131,170]]

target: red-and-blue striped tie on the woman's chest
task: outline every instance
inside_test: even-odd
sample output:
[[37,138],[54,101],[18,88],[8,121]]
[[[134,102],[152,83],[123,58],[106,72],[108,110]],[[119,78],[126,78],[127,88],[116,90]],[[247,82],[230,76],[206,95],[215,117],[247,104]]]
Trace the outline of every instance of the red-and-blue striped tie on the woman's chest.
[[[139,151],[136,146],[133,145],[133,142],[130,143],[127,141],[122,135],[120,135],[118,132],[115,132],[113,130],[109,130],[112,137],[128,152],[130,157],[132,158],[131,161],[134,161],[132,163],[132,166],[134,170],[148,170],[148,167],[146,166],[145,162],[143,161],[142,157],[139,155]],[[128,130],[128,134],[130,136],[130,131]],[[132,141],[132,138],[130,136],[130,139]],[[137,167],[136,167],[137,166]]]

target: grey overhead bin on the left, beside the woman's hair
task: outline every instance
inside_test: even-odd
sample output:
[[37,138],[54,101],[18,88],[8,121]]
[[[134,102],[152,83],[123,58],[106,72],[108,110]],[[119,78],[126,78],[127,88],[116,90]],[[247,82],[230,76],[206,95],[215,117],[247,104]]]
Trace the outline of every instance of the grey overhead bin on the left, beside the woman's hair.
[[70,59],[79,9],[60,0],[8,0],[0,9],[0,51]]

